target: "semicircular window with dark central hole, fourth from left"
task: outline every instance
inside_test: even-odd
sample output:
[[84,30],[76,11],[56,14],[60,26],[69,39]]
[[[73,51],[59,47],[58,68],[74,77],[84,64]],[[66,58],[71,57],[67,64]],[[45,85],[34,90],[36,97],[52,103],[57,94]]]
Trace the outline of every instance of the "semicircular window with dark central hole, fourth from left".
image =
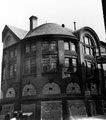
[[77,83],[71,82],[68,84],[66,92],[69,94],[80,94],[80,86]]

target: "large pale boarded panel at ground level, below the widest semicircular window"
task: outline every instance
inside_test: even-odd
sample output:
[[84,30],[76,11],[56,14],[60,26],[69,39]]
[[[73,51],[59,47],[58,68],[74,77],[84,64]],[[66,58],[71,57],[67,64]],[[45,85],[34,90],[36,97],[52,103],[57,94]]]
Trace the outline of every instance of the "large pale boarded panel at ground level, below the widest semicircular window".
[[62,120],[62,105],[59,101],[41,103],[42,120]]

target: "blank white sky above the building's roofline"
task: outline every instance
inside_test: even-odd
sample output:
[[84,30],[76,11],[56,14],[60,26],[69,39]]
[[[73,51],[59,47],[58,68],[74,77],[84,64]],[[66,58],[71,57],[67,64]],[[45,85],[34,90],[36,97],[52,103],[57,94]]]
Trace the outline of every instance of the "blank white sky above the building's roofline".
[[29,30],[31,15],[38,17],[38,25],[53,22],[73,29],[73,22],[76,21],[77,29],[89,26],[100,40],[106,40],[101,0],[1,0],[0,53],[4,26],[7,24]]

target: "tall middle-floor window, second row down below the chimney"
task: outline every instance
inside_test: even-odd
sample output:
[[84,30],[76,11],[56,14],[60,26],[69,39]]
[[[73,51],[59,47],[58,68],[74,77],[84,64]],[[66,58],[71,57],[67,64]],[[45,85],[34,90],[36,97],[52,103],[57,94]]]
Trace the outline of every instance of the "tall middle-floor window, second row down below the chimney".
[[24,60],[24,74],[35,73],[36,71],[36,58],[25,58]]

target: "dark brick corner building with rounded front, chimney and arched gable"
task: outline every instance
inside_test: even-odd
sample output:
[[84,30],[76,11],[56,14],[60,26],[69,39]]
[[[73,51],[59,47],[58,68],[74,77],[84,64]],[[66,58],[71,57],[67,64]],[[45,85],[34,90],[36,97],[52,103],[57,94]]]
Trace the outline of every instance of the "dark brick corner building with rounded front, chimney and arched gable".
[[1,118],[22,113],[21,120],[69,120],[105,114],[96,32],[36,22],[31,16],[30,31],[6,25],[2,32]]

